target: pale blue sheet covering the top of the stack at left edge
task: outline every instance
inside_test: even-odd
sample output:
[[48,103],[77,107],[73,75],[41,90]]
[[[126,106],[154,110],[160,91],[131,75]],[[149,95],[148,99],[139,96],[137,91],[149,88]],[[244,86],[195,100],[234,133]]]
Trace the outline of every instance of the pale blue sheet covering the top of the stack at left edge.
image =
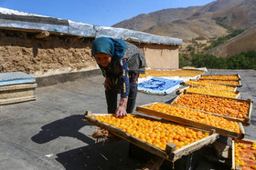
[[36,83],[36,78],[22,72],[0,73],[0,85]]

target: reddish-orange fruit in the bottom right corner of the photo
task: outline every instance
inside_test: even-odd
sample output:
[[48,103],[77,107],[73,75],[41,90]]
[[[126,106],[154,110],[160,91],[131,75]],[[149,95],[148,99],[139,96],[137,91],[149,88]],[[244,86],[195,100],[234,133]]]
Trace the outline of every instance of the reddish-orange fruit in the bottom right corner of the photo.
[[235,141],[235,164],[242,169],[256,169],[256,143]]

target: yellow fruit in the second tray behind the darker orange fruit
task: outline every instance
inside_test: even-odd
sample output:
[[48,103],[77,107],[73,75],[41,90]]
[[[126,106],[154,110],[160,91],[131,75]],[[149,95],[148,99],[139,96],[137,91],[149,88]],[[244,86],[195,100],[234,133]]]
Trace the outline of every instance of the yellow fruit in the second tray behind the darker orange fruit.
[[235,90],[235,87],[233,87],[233,86],[209,84],[209,83],[206,83],[206,82],[187,81],[185,83],[187,85],[204,86],[204,87],[216,88],[216,89],[220,89],[220,90],[229,90],[229,91],[234,91]]

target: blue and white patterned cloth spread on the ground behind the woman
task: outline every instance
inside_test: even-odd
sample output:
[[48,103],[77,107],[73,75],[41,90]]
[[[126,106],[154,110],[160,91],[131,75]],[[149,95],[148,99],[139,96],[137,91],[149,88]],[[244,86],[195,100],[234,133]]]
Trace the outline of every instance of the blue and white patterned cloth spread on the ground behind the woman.
[[138,85],[138,91],[153,95],[168,95],[180,87],[183,80],[152,77]]

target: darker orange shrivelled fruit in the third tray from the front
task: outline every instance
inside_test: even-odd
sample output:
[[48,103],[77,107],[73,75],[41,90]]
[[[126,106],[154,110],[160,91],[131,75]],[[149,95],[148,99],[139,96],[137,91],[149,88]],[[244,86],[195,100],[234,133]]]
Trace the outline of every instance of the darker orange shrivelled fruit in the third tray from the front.
[[180,95],[173,104],[237,118],[245,118],[250,106],[246,101],[197,94]]

